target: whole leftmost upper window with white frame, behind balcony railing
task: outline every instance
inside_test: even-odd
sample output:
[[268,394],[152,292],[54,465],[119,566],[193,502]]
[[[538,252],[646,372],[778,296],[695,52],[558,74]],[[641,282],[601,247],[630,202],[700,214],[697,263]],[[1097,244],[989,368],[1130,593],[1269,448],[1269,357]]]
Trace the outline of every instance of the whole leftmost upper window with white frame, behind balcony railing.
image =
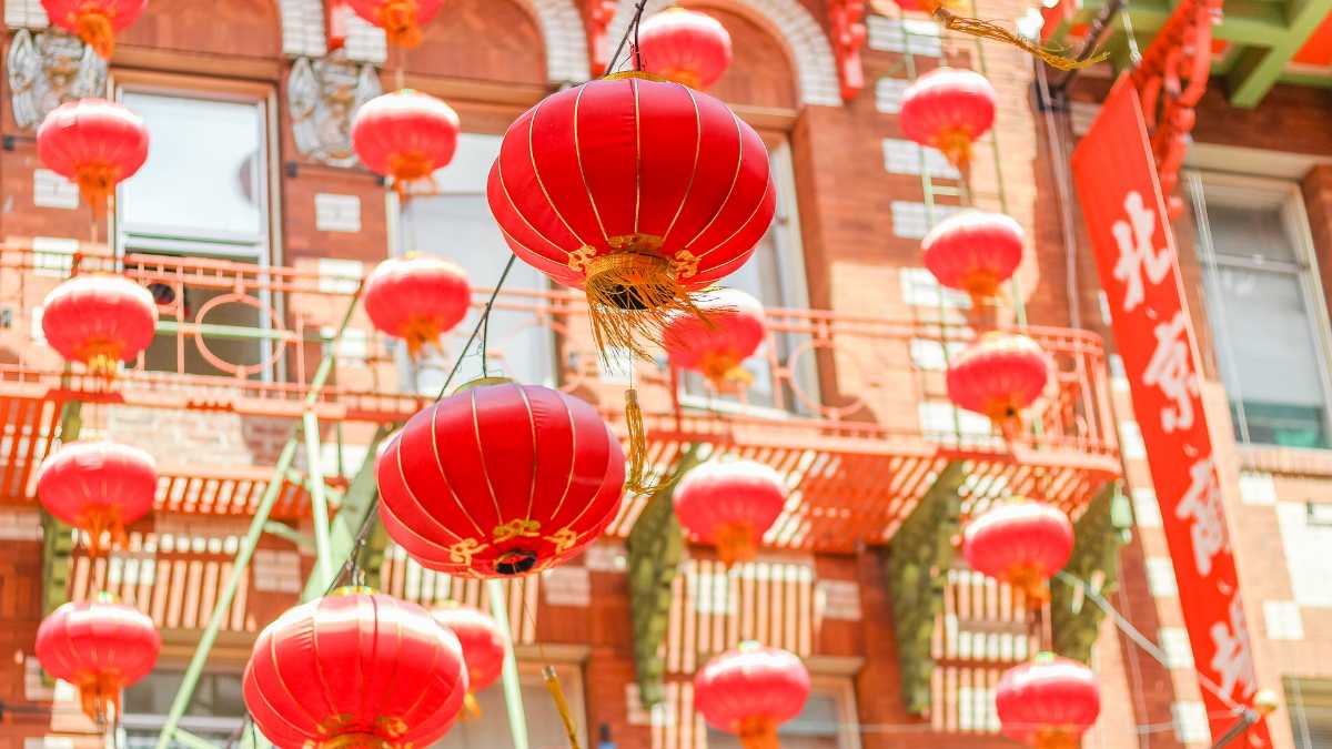
[[[120,252],[268,265],[268,97],[258,89],[233,96],[125,85],[120,100],[144,119],[151,143],[148,161],[121,184],[117,195]],[[217,327],[204,337],[204,344],[221,361],[256,365],[265,345],[272,345],[244,336],[253,328],[270,325],[273,300],[268,293],[249,301],[224,299],[209,304],[230,289],[172,289],[161,284],[152,291],[159,303],[181,305],[180,315],[163,315],[168,325]],[[200,311],[206,320],[197,317]],[[232,336],[222,327],[244,331]],[[193,340],[181,341],[174,332],[159,333],[145,363],[153,371],[230,374],[210,364]]]

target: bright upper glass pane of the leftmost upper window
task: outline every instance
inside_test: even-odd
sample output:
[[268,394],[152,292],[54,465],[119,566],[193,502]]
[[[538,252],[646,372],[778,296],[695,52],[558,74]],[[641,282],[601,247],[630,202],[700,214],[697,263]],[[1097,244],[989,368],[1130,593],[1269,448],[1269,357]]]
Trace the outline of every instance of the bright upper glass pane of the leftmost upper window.
[[266,167],[257,104],[125,92],[148,163],[120,191],[125,231],[260,241]]

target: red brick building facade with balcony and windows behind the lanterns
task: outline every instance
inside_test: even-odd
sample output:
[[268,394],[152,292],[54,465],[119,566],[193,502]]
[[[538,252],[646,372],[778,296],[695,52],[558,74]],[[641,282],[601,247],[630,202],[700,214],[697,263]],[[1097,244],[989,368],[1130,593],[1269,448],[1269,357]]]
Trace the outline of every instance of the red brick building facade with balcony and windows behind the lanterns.
[[[354,307],[358,280],[393,255],[440,253],[466,267],[484,301],[507,259],[484,195],[500,136],[546,93],[586,80],[633,5],[449,0],[425,43],[402,53],[354,17],[330,24],[326,4],[153,0],[105,64],[49,31],[37,0],[3,3],[0,746],[104,745],[69,685],[44,680],[32,654],[45,612],[99,589],[143,608],[163,632],[157,670],[125,696],[121,737],[123,746],[155,745],[272,490],[272,520],[221,610],[172,745],[256,741],[242,721],[240,672],[254,634],[297,601],[314,566],[313,494],[326,494],[340,520],[364,514],[357,476],[380,428],[429,402],[477,315],[444,351],[412,361]],[[765,303],[773,332],[741,398],[665,367],[639,364],[634,377],[661,470],[691,453],[745,454],[778,468],[793,501],[759,561],[730,572],[709,548],[677,558],[669,542],[650,542],[671,537],[669,517],[654,512],[659,502],[626,497],[581,560],[506,582],[533,746],[563,745],[538,676],[550,662],[583,746],[733,745],[705,729],[689,676],[747,638],[797,652],[815,676],[805,714],[783,733],[789,749],[1010,745],[996,730],[994,684],[1051,645],[1088,660],[1100,678],[1088,745],[1207,745],[1162,513],[1068,189],[1068,153],[1114,67],[1150,44],[1169,5],[1135,3],[1127,19],[1115,16],[1112,59],[1044,97],[1036,92],[1060,88],[1063,73],[1038,75],[1024,53],[940,35],[922,15],[876,8],[894,12],[867,16],[856,51],[830,28],[838,0],[683,4],[731,33],[735,60],[713,93],[773,156],[778,220],[730,280]],[[1332,27],[1319,25],[1332,5],[1256,5],[1216,27],[1175,231],[1257,680],[1283,697],[1273,741],[1332,746],[1332,556],[1323,552],[1332,541],[1323,293],[1332,281],[1332,101],[1323,91]],[[1024,0],[986,0],[980,11],[1035,12]],[[1047,24],[1080,32],[1096,11],[1083,5]],[[996,127],[966,184],[898,127],[904,87],[943,64],[978,69],[999,92]],[[856,69],[863,89],[847,91]],[[346,127],[357,104],[404,84],[449,101],[464,136],[437,189],[400,205],[356,163]],[[73,185],[41,168],[33,144],[35,124],[59,101],[97,95],[143,115],[153,143],[101,224]],[[919,240],[966,205],[1026,228],[1028,252],[998,320],[1024,328],[1059,367],[1039,426],[1012,442],[955,410],[943,388],[950,355],[975,331],[970,301],[922,267]],[[109,389],[63,378],[41,340],[45,293],[97,271],[148,285],[163,320],[153,347]],[[519,264],[500,300],[492,367],[574,392],[622,432],[629,373],[590,351],[577,295]],[[332,384],[306,408],[325,355]],[[481,372],[476,351],[462,361],[465,376]],[[320,424],[318,465],[302,449],[274,476],[306,412]],[[143,446],[163,474],[157,512],[105,558],[91,560],[44,517],[32,489],[55,440],[76,436]],[[1007,493],[1043,496],[1078,518],[1070,570],[1155,654],[1071,586],[1056,582],[1042,625],[1007,588],[964,568],[950,550],[958,513]],[[426,605],[488,601],[476,581],[424,570],[382,534],[370,546],[372,582],[389,593]],[[482,718],[441,746],[507,745],[500,689],[482,705]]]

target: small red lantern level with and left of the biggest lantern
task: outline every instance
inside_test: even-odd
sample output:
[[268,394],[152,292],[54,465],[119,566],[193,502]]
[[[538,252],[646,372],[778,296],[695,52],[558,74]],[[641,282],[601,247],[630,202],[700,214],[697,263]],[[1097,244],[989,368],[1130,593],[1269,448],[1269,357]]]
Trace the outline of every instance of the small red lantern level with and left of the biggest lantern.
[[372,172],[393,177],[393,188],[405,196],[408,183],[428,180],[453,161],[460,129],[452,107],[405,88],[356,111],[352,145]]

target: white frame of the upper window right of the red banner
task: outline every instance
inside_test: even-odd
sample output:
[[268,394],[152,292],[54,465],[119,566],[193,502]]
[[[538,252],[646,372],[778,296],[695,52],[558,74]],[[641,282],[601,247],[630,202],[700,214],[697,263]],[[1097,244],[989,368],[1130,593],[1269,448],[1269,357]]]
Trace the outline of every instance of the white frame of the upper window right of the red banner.
[[[1328,319],[1327,297],[1324,296],[1323,283],[1319,277],[1319,264],[1317,264],[1317,251],[1313,244],[1313,235],[1309,229],[1309,217],[1304,209],[1304,196],[1300,192],[1299,183],[1293,180],[1259,177],[1249,175],[1233,175],[1223,172],[1203,172],[1196,169],[1189,169],[1185,172],[1185,180],[1188,185],[1188,193],[1193,204],[1195,225],[1197,231],[1197,255],[1199,264],[1203,271],[1203,293],[1213,295],[1216,293],[1217,269],[1220,267],[1232,268],[1249,268],[1249,269],[1263,269],[1263,271],[1285,271],[1293,272],[1300,283],[1300,292],[1303,295],[1304,307],[1308,311],[1308,324],[1311,328],[1311,335],[1313,339],[1313,345],[1316,347],[1316,360],[1320,363],[1319,367],[1319,380],[1323,385],[1323,413],[1324,424],[1328,430],[1328,438],[1332,438],[1332,371],[1328,368],[1329,352],[1332,352],[1332,321]],[[1249,191],[1252,193],[1268,193],[1280,195],[1281,203],[1281,219],[1285,224],[1287,236],[1291,240],[1292,251],[1295,252],[1295,263],[1280,263],[1280,261],[1264,261],[1264,263],[1251,263],[1240,259],[1225,259],[1219,261],[1212,243],[1211,225],[1207,216],[1207,189],[1225,189],[1225,191]],[[1215,348],[1227,348],[1227,361],[1235,361],[1233,352],[1228,349],[1231,341],[1227,336],[1217,332],[1215,325],[1208,327],[1208,333],[1213,341]],[[1217,356],[1217,368],[1224,367],[1221,357]],[[1237,374],[1233,372],[1232,381],[1239,382]],[[1227,393],[1229,397],[1236,398],[1240,408],[1236,409],[1237,418],[1235,426],[1235,438],[1245,446],[1277,446],[1268,445],[1265,442],[1255,442],[1249,438],[1248,424],[1243,408],[1243,392]],[[1288,448],[1296,449],[1296,448]],[[1328,449],[1327,446],[1321,449]]]

